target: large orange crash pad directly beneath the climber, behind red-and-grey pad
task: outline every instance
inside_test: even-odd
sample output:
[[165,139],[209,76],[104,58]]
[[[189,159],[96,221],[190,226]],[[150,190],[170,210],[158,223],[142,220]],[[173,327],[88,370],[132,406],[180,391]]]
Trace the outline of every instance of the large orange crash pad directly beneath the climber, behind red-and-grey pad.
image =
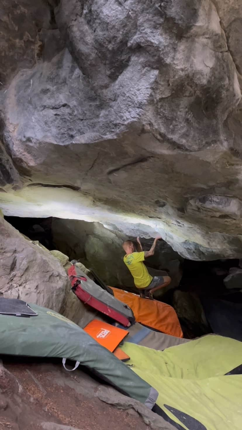
[[131,307],[137,322],[167,335],[183,338],[177,313],[172,306],[118,288],[112,287],[112,290],[115,298]]

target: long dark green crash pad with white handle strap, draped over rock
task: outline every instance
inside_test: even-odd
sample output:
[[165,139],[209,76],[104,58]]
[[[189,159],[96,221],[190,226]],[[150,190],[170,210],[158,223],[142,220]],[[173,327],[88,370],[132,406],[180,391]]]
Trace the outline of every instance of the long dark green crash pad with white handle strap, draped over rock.
[[114,354],[59,313],[34,304],[30,306],[37,316],[25,318],[0,313],[0,354],[74,360],[76,367],[84,365],[150,409],[154,406],[157,391]]

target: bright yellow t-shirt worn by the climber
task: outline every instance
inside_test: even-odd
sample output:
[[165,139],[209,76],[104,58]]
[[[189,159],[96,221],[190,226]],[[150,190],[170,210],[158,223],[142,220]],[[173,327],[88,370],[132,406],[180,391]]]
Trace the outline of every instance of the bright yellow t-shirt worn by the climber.
[[135,286],[137,288],[146,288],[152,281],[146,266],[143,261],[145,259],[145,253],[143,252],[132,252],[132,254],[124,255],[124,263],[130,270],[133,276]]

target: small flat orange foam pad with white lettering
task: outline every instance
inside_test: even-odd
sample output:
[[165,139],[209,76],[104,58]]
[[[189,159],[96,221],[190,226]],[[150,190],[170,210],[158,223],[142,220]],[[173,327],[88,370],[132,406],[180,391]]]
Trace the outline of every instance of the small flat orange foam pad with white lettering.
[[113,352],[120,342],[127,336],[128,331],[118,329],[118,327],[111,326],[106,322],[93,319],[84,328],[84,332],[88,333],[100,345]]

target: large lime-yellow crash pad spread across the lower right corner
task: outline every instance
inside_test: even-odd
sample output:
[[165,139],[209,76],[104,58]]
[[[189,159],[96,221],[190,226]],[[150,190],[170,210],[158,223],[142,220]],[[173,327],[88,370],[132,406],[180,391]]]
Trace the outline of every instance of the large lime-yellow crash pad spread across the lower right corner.
[[128,342],[122,350],[177,429],[242,429],[242,375],[226,375],[242,364],[242,342],[208,335],[164,351]]

